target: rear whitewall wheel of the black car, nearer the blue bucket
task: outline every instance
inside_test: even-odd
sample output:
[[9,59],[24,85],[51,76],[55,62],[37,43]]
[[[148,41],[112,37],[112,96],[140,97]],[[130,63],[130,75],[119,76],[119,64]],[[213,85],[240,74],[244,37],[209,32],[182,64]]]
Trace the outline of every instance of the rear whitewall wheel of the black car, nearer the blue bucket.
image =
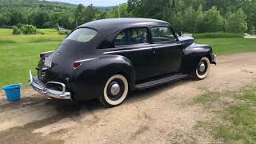
[[106,82],[103,96],[99,100],[106,107],[118,106],[126,99],[128,90],[127,79],[120,74],[116,74]]

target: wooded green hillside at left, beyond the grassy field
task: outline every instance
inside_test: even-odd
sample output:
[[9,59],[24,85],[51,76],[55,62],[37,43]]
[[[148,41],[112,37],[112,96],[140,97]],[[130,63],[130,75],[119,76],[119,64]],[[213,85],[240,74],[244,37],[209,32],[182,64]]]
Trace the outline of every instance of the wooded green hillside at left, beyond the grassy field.
[[76,27],[76,22],[80,25],[94,19],[106,18],[106,11],[113,9],[113,6],[82,6],[46,0],[0,0],[0,27],[29,24],[37,28],[62,26],[72,30]]

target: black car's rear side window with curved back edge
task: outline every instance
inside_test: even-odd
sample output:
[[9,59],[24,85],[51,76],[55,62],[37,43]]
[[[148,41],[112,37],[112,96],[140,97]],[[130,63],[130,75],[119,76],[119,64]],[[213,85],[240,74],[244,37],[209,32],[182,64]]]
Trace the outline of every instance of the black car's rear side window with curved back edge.
[[114,40],[114,46],[126,46],[148,43],[148,30],[147,28],[134,28],[124,30]]

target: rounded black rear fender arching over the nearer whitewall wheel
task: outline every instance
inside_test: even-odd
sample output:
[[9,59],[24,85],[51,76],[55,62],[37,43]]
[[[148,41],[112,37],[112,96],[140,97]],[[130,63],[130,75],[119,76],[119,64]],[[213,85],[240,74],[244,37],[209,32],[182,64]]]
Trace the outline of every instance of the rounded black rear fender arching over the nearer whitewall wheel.
[[130,60],[119,55],[104,55],[74,70],[71,89],[75,99],[98,98],[103,94],[106,81],[114,74],[124,75],[129,82],[130,90],[134,90],[134,66]]

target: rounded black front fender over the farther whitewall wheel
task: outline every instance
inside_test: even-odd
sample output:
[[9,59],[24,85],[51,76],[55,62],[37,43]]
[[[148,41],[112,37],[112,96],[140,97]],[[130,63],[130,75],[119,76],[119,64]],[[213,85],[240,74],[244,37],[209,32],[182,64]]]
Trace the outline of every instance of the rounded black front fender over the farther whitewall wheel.
[[183,52],[182,58],[182,72],[190,74],[202,57],[207,57],[210,59],[211,63],[213,61],[212,48],[208,45],[192,44],[188,46]]

